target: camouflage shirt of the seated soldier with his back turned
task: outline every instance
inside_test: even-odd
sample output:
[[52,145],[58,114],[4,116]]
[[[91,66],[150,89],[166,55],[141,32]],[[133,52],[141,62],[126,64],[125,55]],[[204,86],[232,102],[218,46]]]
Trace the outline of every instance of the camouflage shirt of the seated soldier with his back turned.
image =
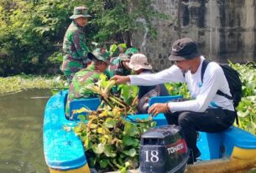
[[85,89],[85,87],[88,84],[97,83],[100,74],[102,74],[102,72],[97,70],[95,65],[91,64],[86,69],[81,69],[74,75],[65,106],[65,114],[67,116],[69,116],[70,103],[73,99],[97,97],[97,94],[89,89]]

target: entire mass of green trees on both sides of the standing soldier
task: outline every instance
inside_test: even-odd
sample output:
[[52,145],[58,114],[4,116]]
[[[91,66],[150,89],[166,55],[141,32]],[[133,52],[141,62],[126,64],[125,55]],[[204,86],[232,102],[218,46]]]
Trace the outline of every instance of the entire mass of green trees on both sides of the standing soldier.
[[61,57],[61,43],[76,6],[87,6],[92,15],[86,27],[89,46],[92,41],[130,46],[132,32],[143,28],[136,19],[144,18],[153,31],[151,19],[164,16],[150,4],[151,0],[0,0],[0,74],[44,73],[53,66],[52,59]]

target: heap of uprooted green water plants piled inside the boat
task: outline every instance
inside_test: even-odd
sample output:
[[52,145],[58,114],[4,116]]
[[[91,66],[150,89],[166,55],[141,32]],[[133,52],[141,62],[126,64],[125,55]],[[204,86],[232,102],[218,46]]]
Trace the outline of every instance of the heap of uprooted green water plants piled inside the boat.
[[[140,136],[156,123],[151,116],[147,120],[136,120],[136,122],[128,119],[128,114],[135,113],[136,101],[127,104],[122,99],[123,94],[121,98],[113,95],[109,91],[114,81],[105,79],[86,86],[86,89],[91,89],[100,95],[102,103],[97,111],[86,108],[75,110],[73,114],[81,112],[87,114],[79,115],[81,121],[74,131],[85,146],[90,167],[101,172],[112,170],[125,172],[128,169],[138,168]],[[133,97],[132,95],[134,96],[135,93],[130,93],[129,97]]]

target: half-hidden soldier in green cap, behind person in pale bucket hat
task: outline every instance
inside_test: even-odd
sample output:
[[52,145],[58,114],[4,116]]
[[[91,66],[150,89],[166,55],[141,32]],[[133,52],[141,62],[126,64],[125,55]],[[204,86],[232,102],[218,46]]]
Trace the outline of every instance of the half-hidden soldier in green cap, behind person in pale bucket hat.
[[126,76],[131,74],[131,69],[128,68],[126,63],[129,62],[133,53],[138,53],[137,48],[128,48],[125,53],[120,53],[118,57],[114,57],[110,60],[110,65],[106,71],[107,77],[111,78],[114,75]]

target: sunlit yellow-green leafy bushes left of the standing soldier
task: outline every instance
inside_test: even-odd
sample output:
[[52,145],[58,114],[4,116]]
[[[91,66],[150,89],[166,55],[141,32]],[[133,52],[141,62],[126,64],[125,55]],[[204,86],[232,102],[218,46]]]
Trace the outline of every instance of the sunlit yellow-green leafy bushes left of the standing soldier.
[[35,5],[22,0],[0,0],[0,7],[0,53],[13,59],[13,73],[39,72],[45,58],[55,51],[53,45],[62,39],[67,9],[73,6],[69,1],[40,1]]

